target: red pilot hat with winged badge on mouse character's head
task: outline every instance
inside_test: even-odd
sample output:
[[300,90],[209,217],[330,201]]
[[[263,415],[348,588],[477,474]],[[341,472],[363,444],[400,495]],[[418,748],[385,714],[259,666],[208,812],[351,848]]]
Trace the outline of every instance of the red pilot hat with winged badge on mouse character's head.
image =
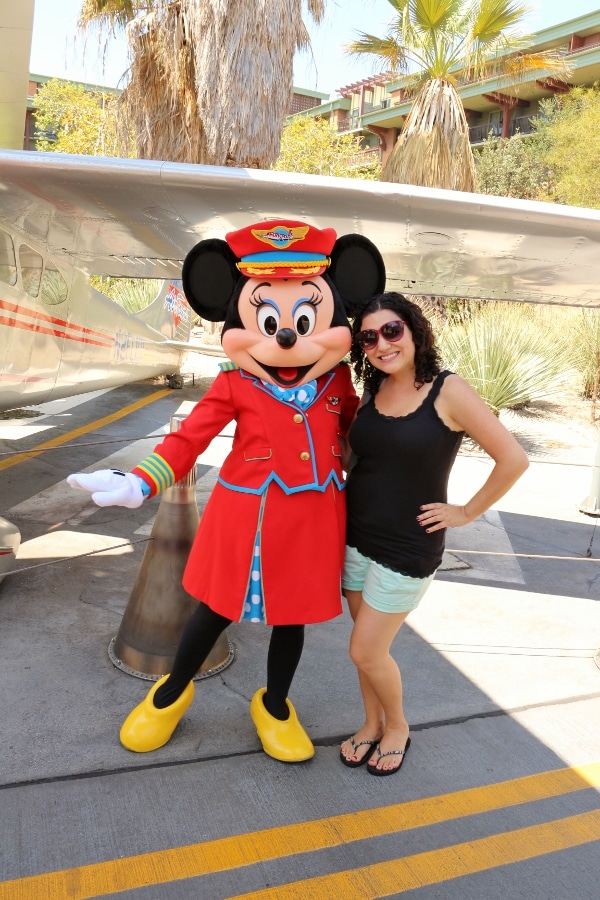
[[306,222],[273,219],[230,231],[227,244],[248,278],[306,278],[322,275],[331,262],[337,234],[333,228],[315,228]]

